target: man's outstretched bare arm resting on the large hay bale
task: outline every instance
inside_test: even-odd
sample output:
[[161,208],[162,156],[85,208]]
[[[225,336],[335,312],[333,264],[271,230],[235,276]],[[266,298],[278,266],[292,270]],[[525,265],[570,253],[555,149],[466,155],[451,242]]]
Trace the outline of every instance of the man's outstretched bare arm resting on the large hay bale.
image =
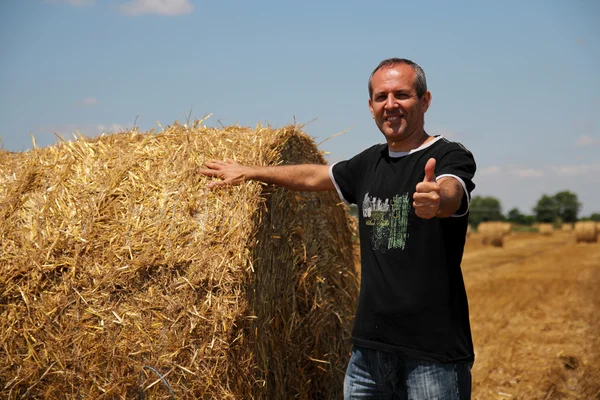
[[259,167],[242,165],[233,160],[211,160],[204,164],[207,168],[200,173],[221,178],[208,187],[238,185],[245,180],[254,180],[282,186],[291,190],[319,191],[333,190],[335,186],[329,177],[329,166],[321,164],[281,165]]

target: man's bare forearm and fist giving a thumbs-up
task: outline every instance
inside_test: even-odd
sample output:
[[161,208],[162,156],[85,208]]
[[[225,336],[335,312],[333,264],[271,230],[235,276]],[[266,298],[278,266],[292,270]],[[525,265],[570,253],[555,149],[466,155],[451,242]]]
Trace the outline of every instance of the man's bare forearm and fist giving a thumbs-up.
[[413,207],[417,216],[425,219],[447,218],[460,208],[464,190],[459,181],[452,177],[435,179],[435,159],[425,165],[425,179],[419,182],[413,195]]

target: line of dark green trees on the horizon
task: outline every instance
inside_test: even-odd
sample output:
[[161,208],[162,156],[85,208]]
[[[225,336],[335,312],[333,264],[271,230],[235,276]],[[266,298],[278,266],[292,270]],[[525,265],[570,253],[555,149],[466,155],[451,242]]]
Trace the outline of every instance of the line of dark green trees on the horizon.
[[502,214],[500,200],[492,196],[474,196],[471,199],[469,223],[473,226],[484,221],[506,221],[519,225],[533,225],[540,222],[554,224],[574,223],[577,221],[600,221],[600,213],[588,217],[579,217],[582,204],[577,195],[568,190],[553,196],[544,194],[532,209],[532,214],[523,214],[513,208]]

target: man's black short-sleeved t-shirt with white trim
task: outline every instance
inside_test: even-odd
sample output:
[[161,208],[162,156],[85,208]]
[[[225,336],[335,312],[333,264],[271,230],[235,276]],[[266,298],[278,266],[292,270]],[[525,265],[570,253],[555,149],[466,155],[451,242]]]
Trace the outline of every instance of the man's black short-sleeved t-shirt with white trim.
[[[457,213],[422,219],[412,206],[425,164],[465,190]],[[472,361],[469,309],[460,263],[475,160],[441,136],[408,153],[373,146],[330,169],[336,189],[358,206],[361,288],[353,343],[442,362]]]

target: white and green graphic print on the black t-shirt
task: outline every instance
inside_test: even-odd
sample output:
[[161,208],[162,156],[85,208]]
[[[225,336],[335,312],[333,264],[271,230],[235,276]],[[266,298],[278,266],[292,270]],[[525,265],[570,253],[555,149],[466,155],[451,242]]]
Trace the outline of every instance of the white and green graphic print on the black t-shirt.
[[372,227],[373,250],[404,250],[408,239],[409,207],[408,193],[395,195],[391,201],[371,197],[368,192],[365,194],[362,212],[365,224]]

